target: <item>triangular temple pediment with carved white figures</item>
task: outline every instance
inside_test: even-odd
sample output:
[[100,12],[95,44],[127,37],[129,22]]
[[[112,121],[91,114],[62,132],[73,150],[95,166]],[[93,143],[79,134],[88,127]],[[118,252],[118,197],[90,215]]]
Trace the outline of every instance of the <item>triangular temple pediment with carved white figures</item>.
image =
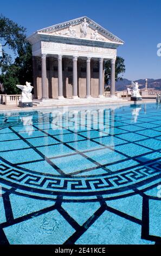
[[117,36],[107,31],[107,29],[102,28],[100,25],[98,25],[98,23],[94,22],[86,16],[43,28],[37,32],[68,38],[114,42],[117,44],[124,43]]

